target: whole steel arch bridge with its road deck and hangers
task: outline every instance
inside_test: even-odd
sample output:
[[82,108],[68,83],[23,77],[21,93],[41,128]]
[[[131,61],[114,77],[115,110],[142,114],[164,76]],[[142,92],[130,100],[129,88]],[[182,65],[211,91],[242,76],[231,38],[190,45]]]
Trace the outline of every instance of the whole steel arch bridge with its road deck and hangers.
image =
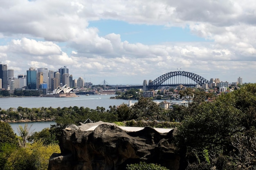
[[[168,86],[168,85],[173,85],[173,86],[177,86],[180,84],[187,84],[190,86],[195,86],[195,84],[191,84],[191,83],[184,83],[184,77],[187,77],[191,80],[193,80],[193,82],[195,82],[195,84],[209,84],[209,81],[207,79],[205,79],[204,77],[201,77],[200,75],[197,75],[195,73],[190,73],[190,72],[186,72],[186,71],[174,71],[174,72],[170,72],[170,73],[166,73],[164,75],[161,75],[160,77],[157,77],[155,80],[153,80],[152,82],[148,83],[148,88],[154,89],[156,90],[159,86]],[[166,82],[166,80],[168,79],[173,79],[174,78],[174,82],[175,82],[175,78],[176,78],[176,82],[175,83],[171,83],[171,84],[164,84],[164,82]],[[182,82],[183,80],[183,82]]]

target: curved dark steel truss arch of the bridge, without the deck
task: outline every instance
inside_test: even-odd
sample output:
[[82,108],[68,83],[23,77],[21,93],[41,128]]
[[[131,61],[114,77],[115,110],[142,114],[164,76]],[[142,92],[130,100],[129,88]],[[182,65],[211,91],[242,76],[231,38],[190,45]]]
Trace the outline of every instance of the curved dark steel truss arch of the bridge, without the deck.
[[150,82],[148,84],[148,87],[156,90],[166,80],[170,79],[171,77],[175,77],[175,76],[188,77],[188,78],[192,79],[195,83],[200,84],[200,85],[209,84],[209,81],[207,79],[205,79],[204,77],[201,77],[200,75],[197,75],[195,73],[190,73],[190,72],[186,72],[186,71],[174,71],[174,72],[169,72],[169,73],[166,73],[164,75],[157,77],[155,80],[153,80],[152,82]]

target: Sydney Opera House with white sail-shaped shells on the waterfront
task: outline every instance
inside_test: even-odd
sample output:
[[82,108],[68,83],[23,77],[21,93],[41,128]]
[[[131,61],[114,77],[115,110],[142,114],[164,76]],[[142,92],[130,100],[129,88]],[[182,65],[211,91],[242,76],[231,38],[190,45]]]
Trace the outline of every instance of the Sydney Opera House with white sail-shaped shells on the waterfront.
[[76,93],[73,93],[73,88],[64,86],[58,86],[49,97],[77,97]]

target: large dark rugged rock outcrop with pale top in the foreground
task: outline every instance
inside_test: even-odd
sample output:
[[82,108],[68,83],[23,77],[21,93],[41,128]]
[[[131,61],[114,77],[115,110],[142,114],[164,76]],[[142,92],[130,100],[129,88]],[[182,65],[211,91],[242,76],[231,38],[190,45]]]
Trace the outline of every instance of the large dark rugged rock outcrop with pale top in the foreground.
[[124,170],[140,161],[178,170],[173,135],[175,129],[160,133],[145,127],[131,132],[102,121],[71,125],[63,130],[61,153],[50,157],[48,170]]

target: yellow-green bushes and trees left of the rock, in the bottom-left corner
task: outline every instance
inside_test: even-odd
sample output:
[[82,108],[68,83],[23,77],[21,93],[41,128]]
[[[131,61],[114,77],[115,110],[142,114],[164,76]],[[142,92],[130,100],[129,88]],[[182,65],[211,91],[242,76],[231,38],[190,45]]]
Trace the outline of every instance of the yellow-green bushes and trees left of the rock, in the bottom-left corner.
[[50,156],[60,152],[58,144],[45,144],[39,137],[28,143],[31,132],[27,124],[18,130],[20,136],[9,124],[0,122],[0,170],[47,170]]

